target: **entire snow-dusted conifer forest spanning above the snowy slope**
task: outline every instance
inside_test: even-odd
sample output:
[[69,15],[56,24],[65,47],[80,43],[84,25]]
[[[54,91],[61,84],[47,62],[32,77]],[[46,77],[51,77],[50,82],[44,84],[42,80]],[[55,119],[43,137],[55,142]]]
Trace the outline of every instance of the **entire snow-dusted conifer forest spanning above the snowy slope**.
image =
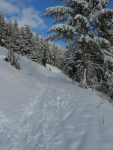
[[[113,10],[108,4],[109,0],[59,0],[59,6],[44,13],[54,20],[48,37],[0,13],[0,45],[9,49],[5,60],[20,69],[19,54],[25,55],[45,67],[57,66],[81,87],[113,97]],[[54,40],[65,41],[66,48]]]

